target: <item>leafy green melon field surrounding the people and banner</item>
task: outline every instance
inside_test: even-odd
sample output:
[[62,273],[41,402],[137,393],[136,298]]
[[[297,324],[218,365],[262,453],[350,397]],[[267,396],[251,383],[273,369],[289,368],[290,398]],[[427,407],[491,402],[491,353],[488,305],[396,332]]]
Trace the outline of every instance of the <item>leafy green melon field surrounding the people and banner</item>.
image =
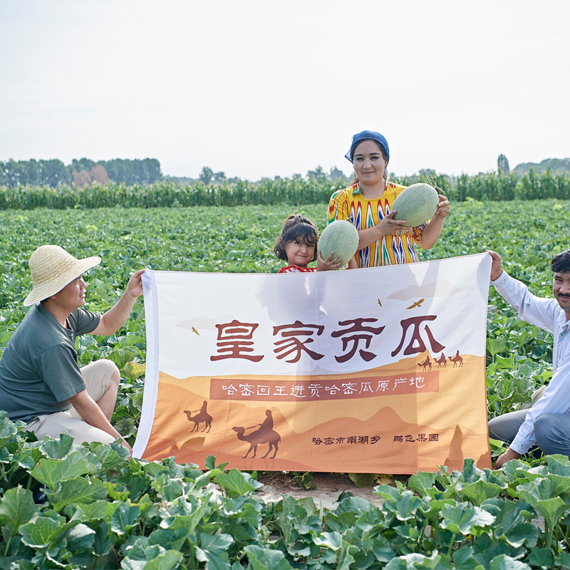
[[[570,247],[569,207],[561,199],[452,202],[440,241],[420,259],[493,249],[512,276],[549,296],[549,260]],[[295,210],[324,229],[326,204],[0,211],[0,351],[24,316],[27,261],[41,244],[103,259],[86,281],[88,309],[105,311],[143,267],[279,271],[271,248]],[[493,288],[487,332],[493,417],[529,402],[549,380],[551,338],[519,321]],[[110,358],[121,369],[113,423],[130,442],[145,346],[142,298],[114,336],[85,336],[77,345],[81,365]],[[257,473],[224,469],[214,457],[206,470],[128,460],[118,444],[37,442],[23,428],[0,412],[0,569],[570,568],[566,457],[522,458],[500,472],[466,460],[462,472],[379,484],[381,508],[343,494],[328,511],[287,496],[264,504]],[[491,447],[499,455],[500,443]],[[40,487],[45,497],[34,502]]]

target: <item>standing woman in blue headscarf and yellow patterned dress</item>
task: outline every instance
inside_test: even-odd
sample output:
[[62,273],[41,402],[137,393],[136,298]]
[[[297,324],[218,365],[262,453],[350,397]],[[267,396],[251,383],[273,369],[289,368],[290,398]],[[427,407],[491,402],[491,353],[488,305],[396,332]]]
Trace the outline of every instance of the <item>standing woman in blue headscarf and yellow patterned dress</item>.
[[348,264],[376,267],[418,261],[415,246],[430,249],[437,240],[443,221],[450,213],[450,202],[440,195],[437,210],[429,222],[403,227],[394,219],[392,204],[405,186],[387,180],[390,149],[388,141],[373,130],[353,136],[346,158],[353,163],[353,185],[337,190],[328,204],[328,223],[348,219],[358,229],[358,252]]

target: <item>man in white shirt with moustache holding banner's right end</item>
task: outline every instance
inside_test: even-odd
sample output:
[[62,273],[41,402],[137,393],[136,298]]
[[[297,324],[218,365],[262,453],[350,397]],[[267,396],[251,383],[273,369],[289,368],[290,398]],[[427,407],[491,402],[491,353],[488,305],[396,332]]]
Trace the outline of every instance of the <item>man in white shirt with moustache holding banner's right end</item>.
[[554,256],[552,291],[554,299],[532,295],[527,286],[501,267],[499,254],[492,257],[491,282],[519,317],[554,336],[552,378],[543,395],[531,408],[499,415],[489,420],[489,437],[509,442],[509,449],[494,468],[518,459],[535,443],[544,455],[570,457],[570,249]]

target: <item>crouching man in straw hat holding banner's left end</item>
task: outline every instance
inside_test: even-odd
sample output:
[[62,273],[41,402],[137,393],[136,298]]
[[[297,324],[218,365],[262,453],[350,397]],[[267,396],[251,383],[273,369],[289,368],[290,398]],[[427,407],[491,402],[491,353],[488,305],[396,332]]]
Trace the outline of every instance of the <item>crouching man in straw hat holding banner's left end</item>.
[[[142,294],[141,275],[133,274],[117,304],[99,315],[83,309],[83,273],[100,257],[76,259],[56,245],[31,254],[31,306],[0,360],[0,409],[21,420],[39,439],[62,432],[75,442],[110,443],[121,437],[111,425],[120,373],[111,361],[79,368],[76,336],[112,335],[127,320]],[[131,451],[123,440],[123,445]]]

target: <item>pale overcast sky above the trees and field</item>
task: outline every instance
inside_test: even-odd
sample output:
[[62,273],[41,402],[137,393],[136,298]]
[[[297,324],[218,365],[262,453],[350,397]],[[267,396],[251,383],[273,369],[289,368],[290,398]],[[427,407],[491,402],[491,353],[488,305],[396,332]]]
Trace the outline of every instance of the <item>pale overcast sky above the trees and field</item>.
[[0,160],[165,175],[348,174],[570,157],[570,2],[0,0]]

